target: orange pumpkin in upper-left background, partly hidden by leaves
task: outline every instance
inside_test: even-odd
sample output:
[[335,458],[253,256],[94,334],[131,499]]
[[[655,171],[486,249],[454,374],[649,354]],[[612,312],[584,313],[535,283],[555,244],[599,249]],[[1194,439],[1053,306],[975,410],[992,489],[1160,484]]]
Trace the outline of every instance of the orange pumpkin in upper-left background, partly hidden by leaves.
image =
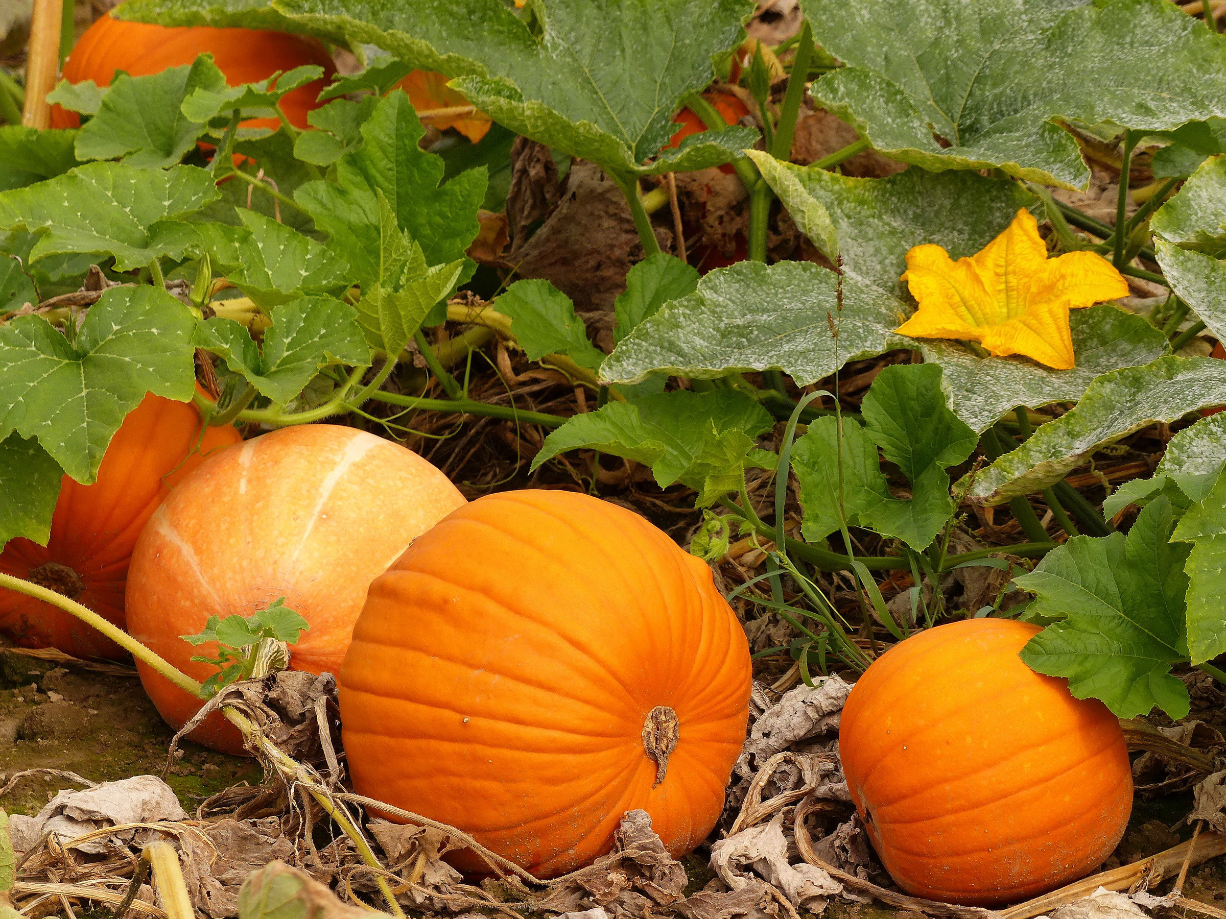
[[[92,80],[98,86],[110,86],[116,70],[130,76],[148,76],[191,64],[201,54],[213,55],[213,64],[230,86],[267,80],[278,70],[293,70],[304,64],[324,67],[322,78],[298,87],[281,100],[286,118],[295,127],[308,126],[306,113],[320,104],[320,92],[336,74],[336,65],[324,45],[305,36],[249,28],[156,26],[125,22],[108,12],[77,39],[64,64],[63,76],[70,83]],[[76,127],[80,123],[75,112],[59,105],[51,108],[51,127]],[[276,130],[281,121],[253,118],[243,125]]]

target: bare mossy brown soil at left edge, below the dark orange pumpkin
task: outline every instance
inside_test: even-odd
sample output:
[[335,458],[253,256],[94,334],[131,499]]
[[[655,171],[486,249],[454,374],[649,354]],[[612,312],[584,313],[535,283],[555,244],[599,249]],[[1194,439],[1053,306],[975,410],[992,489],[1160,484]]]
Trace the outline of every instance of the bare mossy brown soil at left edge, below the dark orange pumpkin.
[[[159,776],[174,732],[131,676],[66,670],[54,663],[0,651],[0,771],[61,770],[92,782]],[[226,756],[191,743],[163,777],[183,807],[195,812],[210,795],[262,777],[255,760]],[[64,788],[55,776],[31,776],[5,795],[10,814],[37,814]]]

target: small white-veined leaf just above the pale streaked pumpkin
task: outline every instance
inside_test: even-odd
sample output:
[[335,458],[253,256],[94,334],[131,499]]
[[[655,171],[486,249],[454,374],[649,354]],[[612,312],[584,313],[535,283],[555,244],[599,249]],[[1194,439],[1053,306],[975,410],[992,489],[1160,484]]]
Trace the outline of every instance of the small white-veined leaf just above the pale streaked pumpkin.
[[196,347],[211,350],[246,377],[259,392],[284,404],[322,368],[365,366],[370,349],[353,309],[331,297],[302,297],[275,306],[259,349],[246,328],[229,319],[210,319],[196,331]]

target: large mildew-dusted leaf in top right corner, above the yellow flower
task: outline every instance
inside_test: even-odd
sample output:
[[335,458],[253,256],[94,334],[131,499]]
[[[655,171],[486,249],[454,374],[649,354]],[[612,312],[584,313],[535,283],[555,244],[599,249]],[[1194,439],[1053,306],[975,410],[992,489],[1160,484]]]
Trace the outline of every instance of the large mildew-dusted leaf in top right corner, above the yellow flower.
[[814,85],[817,99],[875,149],[924,169],[999,167],[1085,187],[1062,119],[1168,130],[1226,115],[1226,45],[1166,0],[801,6],[848,65]]

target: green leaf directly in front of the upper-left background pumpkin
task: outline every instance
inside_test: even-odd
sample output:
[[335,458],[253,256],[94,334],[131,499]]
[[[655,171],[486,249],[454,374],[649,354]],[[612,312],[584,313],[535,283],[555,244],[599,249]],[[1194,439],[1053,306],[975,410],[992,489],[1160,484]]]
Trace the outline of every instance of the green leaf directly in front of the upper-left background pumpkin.
[[128,165],[174,165],[205,134],[205,118],[191,118],[180,104],[195,92],[217,92],[226,76],[202,54],[195,64],[151,76],[118,74],[97,114],[77,135],[80,159],[121,159]]

